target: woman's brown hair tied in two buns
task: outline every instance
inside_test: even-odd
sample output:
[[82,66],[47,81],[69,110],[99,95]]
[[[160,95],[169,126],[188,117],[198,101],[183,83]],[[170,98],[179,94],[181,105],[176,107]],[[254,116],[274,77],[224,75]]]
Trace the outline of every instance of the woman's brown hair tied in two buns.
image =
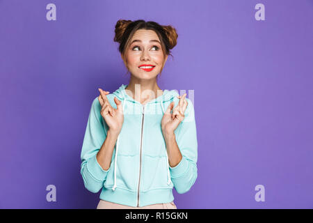
[[[173,28],[172,26],[162,26],[157,22],[152,21],[145,22],[145,20],[136,20],[134,22],[131,20],[118,20],[118,22],[116,22],[115,24],[114,41],[120,43],[120,47],[118,48],[118,50],[122,54],[126,67],[127,67],[127,49],[129,47],[131,38],[134,36],[134,33],[136,33],[138,29],[147,29],[155,31],[155,33],[157,33],[157,36],[160,39],[164,58],[166,57],[166,55],[172,56],[172,54],[170,53],[170,49],[175,47],[175,45],[177,44],[178,37],[175,28]],[[163,70],[163,67],[164,63],[161,68],[161,72]]]

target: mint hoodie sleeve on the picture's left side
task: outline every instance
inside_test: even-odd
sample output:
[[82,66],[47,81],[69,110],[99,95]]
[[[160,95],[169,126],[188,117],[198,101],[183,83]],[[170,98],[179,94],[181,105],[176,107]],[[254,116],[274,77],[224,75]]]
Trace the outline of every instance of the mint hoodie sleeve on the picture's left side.
[[97,162],[96,155],[106,139],[106,123],[101,114],[101,105],[98,98],[91,105],[83,147],[81,149],[81,176],[83,184],[90,192],[97,193],[102,189],[108,170],[102,169]]

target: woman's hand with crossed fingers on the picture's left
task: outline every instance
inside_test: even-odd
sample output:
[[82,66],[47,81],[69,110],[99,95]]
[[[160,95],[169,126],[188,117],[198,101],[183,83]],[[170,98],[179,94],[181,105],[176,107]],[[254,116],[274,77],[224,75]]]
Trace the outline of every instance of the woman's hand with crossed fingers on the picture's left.
[[102,89],[98,90],[100,92],[98,100],[102,106],[101,115],[106,121],[106,124],[109,126],[110,132],[119,134],[124,122],[122,102],[120,102],[118,98],[114,97],[114,102],[117,107],[117,109],[115,109],[110,105],[108,98],[106,98],[106,95],[109,94],[109,91],[103,91]]

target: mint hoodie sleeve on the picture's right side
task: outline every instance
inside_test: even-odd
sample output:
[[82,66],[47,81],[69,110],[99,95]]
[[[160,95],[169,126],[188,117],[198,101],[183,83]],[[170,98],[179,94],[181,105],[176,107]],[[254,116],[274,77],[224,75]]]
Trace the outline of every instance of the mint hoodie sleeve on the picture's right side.
[[198,176],[198,141],[195,127],[195,111],[191,100],[186,98],[188,105],[184,120],[175,130],[175,138],[182,160],[175,167],[170,167],[172,183],[179,194],[191,189]]

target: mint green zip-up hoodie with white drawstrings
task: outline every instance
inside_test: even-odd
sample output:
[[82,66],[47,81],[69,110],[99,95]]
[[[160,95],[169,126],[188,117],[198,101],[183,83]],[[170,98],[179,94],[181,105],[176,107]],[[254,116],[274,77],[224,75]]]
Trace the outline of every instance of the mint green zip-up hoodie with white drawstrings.
[[161,130],[164,112],[175,102],[177,91],[164,90],[163,95],[147,104],[131,98],[125,92],[127,85],[106,95],[116,108],[114,97],[122,101],[124,123],[113,151],[108,170],[102,169],[96,159],[109,130],[100,111],[98,98],[93,100],[81,150],[81,176],[87,190],[99,192],[100,199],[122,205],[143,207],[174,200],[172,187],[183,194],[190,190],[198,176],[198,142],[195,112],[191,100],[184,120],[175,130],[175,139],[182,153],[182,160],[175,167],[168,164],[166,142]]

